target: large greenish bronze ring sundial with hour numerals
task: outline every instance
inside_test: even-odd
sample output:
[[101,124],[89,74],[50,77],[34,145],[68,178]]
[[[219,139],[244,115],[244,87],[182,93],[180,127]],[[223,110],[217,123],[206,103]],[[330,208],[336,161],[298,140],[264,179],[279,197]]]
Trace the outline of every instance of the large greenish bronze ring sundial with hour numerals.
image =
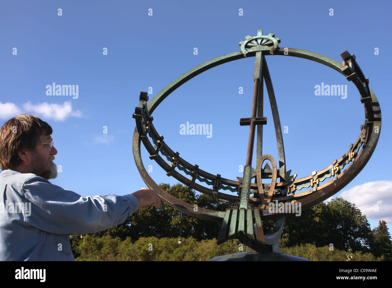
[[[307,209],[324,201],[354,179],[372,156],[381,130],[381,110],[377,98],[368,85],[368,78],[365,78],[359,68],[354,54],[344,51],[340,54],[343,59],[340,63],[321,54],[301,49],[281,48],[279,43],[280,39],[275,38],[274,34],[263,35],[262,30],[258,30],[257,36],[246,36],[245,40],[240,42],[240,51],[214,58],[193,68],[167,85],[149,103],[147,103],[149,100],[147,92],[141,92],[139,106],[133,114],[136,120],[133,155],[146,185],[156,190],[162,201],[181,212],[201,219],[219,221],[221,228],[218,244],[236,238],[257,252],[279,252],[278,239],[283,230],[285,216],[296,213],[298,207]],[[297,174],[286,167],[278,107],[265,59],[265,56],[275,55],[305,58],[338,71],[356,85],[360,95],[359,100],[365,108],[365,121],[360,125],[360,134],[353,143],[349,144],[348,150],[343,151],[340,158],[331,159],[328,167],[302,178],[297,177]],[[154,128],[152,112],[171,92],[196,75],[223,63],[248,57],[255,57],[254,92],[252,105],[249,107],[250,115],[244,115],[244,118],[239,121],[241,126],[249,126],[248,146],[244,147],[247,149],[247,158],[242,177],[237,177],[236,180],[226,179],[220,174],[204,171],[202,163],[192,165],[181,158],[179,152],[174,152]],[[263,125],[267,125],[267,118],[263,117],[264,83],[272,110],[278,159],[274,159],[269,154],[262,154]],[[271,121],[268,120],[268,123],[270,124]],[[252,163],[255,139],[256,161]],[[156,161],[168,176],[201,193],[230,201],[236,205],[236,208],[229,208],[226,211],[201,207],[195,209],[194,205],[180,201],[165,192],[147,173],[140,154],[140,142],[143,142],[149,152],[149,158]],[[270,183],[263,183],[263,179],[269,179]],[[205,186],[200,184],[202,182]],[[225,190],[236,192],[237,195],[224,193]],[[269,219],[276,220],[275,227],[271,234],[265,235],[263,221]]]

